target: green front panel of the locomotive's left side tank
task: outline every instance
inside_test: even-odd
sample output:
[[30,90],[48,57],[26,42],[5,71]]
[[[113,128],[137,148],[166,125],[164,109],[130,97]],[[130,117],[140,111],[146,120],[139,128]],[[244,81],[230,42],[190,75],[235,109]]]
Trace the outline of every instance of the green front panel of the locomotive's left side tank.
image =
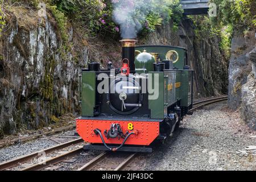
[[82,72],[82,116],[94,117],[96,72]]

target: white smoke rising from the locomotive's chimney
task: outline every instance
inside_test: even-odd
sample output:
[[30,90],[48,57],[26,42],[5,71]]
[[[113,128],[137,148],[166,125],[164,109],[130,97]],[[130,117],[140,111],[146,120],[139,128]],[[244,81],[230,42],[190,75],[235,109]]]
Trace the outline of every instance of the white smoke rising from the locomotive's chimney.
[[[182,15],[179,0],[111,0],[113,4],[113,20],[120,27],[123,39],[137,38],[143,27],[150,30],[148,15],[170,20],[172,13]],[[180,7],[180,12],[173,12],[173,7]],[[158,16],[158,17],[157,17]],[[159,17],[160,16],[160,17]],[[152,18],[152,17],[151,17]],[[152,26],[152,24],[151,24]]]

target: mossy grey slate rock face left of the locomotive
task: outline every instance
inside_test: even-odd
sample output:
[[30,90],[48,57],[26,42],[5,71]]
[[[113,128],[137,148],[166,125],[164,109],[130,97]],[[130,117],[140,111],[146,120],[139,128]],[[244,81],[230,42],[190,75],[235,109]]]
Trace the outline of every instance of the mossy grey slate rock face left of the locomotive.
[[[7,14],[7,23],[0,42],[0,136],[78,113],[78,79],[88,59],[87,47],[64,50],[49,13],[40,18],[36,11],[15,7]],[[72,27],[68,36],[66,44],[74,44]]]

